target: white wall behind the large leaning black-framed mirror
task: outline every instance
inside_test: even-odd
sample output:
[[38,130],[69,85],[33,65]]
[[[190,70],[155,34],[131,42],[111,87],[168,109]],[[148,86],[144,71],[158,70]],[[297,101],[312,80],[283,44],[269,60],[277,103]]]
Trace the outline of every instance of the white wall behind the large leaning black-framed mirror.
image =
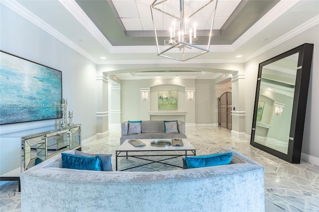
[[304,43],[314,43],[314,55],[307,101],[302,158],[319,163],[319,25],[316,25],[288,41],[272,48],[264,54],[245,63],[245,129],[251,134],[256,92],[258,65],[276,55],[286,52]]

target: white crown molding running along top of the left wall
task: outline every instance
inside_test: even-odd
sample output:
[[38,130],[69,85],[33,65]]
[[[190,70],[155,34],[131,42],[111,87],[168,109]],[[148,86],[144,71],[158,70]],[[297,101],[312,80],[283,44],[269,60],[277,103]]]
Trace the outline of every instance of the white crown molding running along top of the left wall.
[[31,11],[29,11],[28,9],[23,7],[17,1],[15,1],[15,0],[1,0],[1,4],[7,6],[12,11],[14,11],[17,14],[21,15],[26,20],[30,21],[31,23],[33,23],[34,25],[36,25],[40,29],[44,30],[45,32],[47,32],[51,36],[55,37],[56,39],[58,39],[59,41],[61,41],[65,45],[69,46],[70,48],[72,48],[76,52],[80,53],[81,55],[83,55],[87,59],[91,60],[93,63],[97,62],[95,57],[93,57],[87,51],[85,51],[84,49],[82,49],[81,47],[79,47],[78,45],[73,43],[70,39],[68,39],[62,33],[60,33],[59,31],[57,31],[56,29],[51,27],[49,24],[44,22],[38,16],[33,14]]

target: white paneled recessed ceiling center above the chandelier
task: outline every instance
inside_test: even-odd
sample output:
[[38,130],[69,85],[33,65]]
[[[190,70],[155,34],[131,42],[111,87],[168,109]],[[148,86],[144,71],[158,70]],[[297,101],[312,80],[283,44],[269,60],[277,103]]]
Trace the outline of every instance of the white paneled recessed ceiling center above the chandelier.
[[[219,0],[218,1],[218,10],[216,10],[213,29],[220,29],[229,16],[233,13],[235,8],[238,6],[241,0]],[[151,15],[150,5],[153,1],[149,0],[112,0],[115,9],[118,12],[118,15],[123,22],[123,25],[126,30],[154,30],[153,20]],[[172,0],[164,1],[160,4],[160,8],[164,11],[169,10],[172,14],[179,16],[179,1],[175,1],[175,6],[171,7],[166,5],[165,3],[171,3]],[[192,12],[194,12],[191,8],[199,8],[201,5],[207,3],[208,0],[185,0],[185,15],[188,16]],[[211,5],[213,2],[210,3]],[[156,28],[158,30],[169,30],[169,25],[171,23],[170,17],[165,15],[158,10],[154,11],[154,18],[156,22]],[[212,10],[202,9],[198,12],[199,14],[194,15],[194,20],[198,23],[205,23],[201,26],[200,29],[210,29],[210,25],[206,24],[209,22],[210,15]],[[188,15],[187,15],[188,14]]]

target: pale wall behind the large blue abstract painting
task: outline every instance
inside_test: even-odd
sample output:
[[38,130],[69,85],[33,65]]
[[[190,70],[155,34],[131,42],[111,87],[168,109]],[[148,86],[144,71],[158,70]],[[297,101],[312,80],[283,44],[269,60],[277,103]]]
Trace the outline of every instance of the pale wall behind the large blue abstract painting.
[[[3,4],[0,21],[0,49],[62,71],[62,94],[73,123],[82,124],[83,139],[95,135],[96,65]],[[58,124],[59,119],[1,125],[0,135]]]

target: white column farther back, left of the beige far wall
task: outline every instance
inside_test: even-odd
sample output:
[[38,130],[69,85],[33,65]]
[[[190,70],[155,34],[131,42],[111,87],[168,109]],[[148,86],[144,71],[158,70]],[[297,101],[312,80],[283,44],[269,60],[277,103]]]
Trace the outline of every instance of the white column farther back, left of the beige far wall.
[[110,124],[121,124],[121,85],[111,84],[111,94],[110,94]]

